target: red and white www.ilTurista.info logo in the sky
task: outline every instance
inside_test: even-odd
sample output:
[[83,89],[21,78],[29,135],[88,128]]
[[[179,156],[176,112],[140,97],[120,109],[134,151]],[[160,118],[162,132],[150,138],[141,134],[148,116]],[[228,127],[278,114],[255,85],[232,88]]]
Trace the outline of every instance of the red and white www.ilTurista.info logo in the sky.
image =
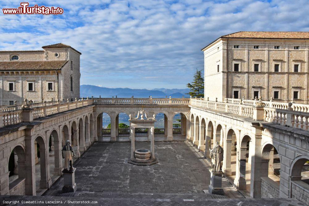
[[63,14],[63,9],[60,7],[29,6],[28,2],[21,2],[18,8],[2,9],[3,14],[43,14],[43,15],[58,15]]

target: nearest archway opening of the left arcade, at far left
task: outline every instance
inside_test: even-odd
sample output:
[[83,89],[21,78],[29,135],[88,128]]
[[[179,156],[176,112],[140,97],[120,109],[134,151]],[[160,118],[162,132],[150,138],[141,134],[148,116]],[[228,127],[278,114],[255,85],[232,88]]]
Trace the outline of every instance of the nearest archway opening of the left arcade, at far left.
[[[9,171],[9,195],[25,195],[25,151],[22,146],[16,146],[10,155],[8,162]],[[19,190],[13,187],[18,185]]]

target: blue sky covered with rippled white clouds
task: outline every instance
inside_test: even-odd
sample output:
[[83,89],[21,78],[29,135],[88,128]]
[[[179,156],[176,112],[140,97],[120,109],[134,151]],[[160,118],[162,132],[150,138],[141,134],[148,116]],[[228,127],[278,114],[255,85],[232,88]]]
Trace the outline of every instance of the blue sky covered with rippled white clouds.
[[253,0],[29,1],[63,15],[3,15],[20,1],[0,1],[0,50],[62,42],[81,55],[81,84],[185,88],[200,51],[237,31],[309,31],[309,2]]

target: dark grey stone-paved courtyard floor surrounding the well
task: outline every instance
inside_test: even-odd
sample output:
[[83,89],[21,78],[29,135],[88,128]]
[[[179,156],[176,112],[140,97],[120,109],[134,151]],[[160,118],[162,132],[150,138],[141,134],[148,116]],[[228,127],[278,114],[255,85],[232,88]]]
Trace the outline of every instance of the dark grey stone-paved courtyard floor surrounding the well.
[[[149,148],[149,142],[137,142],[136,148]],[[129,142],[96,142],[74,163],[77,191],[120,193],[204,193],[210,184],[210,164],[188,142],[156,142],[158,164],[134,166]],[[61,192],[60,178],[44,195]],[[242,198],[226,179],[225,195]]]

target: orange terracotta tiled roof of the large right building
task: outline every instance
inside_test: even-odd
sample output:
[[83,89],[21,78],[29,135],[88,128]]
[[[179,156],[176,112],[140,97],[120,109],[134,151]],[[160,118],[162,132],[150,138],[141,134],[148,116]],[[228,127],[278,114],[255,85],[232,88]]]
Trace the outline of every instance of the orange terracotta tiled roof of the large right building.
[[309,32],[235,32],[221,38],[309,39]]

